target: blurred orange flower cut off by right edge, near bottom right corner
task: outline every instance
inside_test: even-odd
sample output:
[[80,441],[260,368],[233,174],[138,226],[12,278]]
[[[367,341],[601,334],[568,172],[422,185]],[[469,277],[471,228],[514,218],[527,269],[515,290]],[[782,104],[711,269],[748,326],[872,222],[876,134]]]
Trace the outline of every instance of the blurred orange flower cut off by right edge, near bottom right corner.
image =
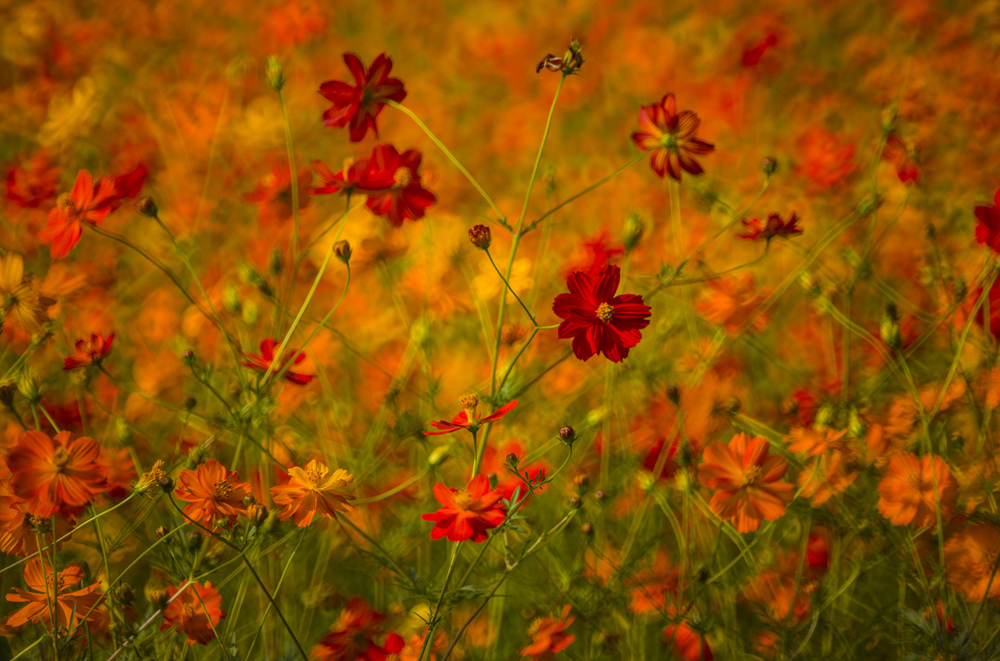
[[[985,597],[1000,599],[1000,530],[989,523],[969,526],[944,545],[944,565],[948,582],[966,601],[978,603]],[[992,579],[992,580],[991,580]],[[986,586],[989,585],[989,592]]]

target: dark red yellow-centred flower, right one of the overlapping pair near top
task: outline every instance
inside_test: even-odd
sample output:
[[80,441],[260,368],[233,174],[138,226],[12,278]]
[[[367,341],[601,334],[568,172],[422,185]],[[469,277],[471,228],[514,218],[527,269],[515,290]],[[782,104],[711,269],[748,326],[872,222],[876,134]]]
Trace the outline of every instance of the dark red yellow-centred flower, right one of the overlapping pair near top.
[[368,194],[365,203],[376,216],[387,216],[393,227],[404,220],[419,220],[424,210],[437,202],[437,196],[420,183],[420,160],[415,149],[402,154],[392,145],[379,145],[369,159],[368,179],[358,189]]

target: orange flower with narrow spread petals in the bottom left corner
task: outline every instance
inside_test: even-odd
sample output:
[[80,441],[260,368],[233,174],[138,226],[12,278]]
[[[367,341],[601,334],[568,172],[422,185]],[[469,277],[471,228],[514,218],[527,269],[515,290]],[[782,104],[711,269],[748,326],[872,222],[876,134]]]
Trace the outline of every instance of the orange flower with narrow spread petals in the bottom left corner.
[[53,611],[60,628],[72,629],[84,621],[96,622],[104,614],[103,608],[94,608],[101,598],[97,592],[101,584],[74,590],[82,580],[81,565],[72,564],[57,576],[51,565],[32,558],[24,566],[24,582],[29,589],[13,588],[14,594],[7,595],[7,601],[26,604],[7,618],[7,626],[33,622],[51,628]]

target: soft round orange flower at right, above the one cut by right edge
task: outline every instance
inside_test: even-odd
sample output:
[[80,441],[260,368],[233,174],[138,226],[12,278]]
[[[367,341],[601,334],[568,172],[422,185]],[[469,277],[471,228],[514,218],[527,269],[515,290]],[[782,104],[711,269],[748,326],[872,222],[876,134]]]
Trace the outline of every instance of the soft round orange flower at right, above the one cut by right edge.
[[942,519],[951,516],[958,497],[958,483],[941,457],[917,457],[911,452],[901,452],[889,460],[878,492],[882,496],[878,501],[882,516],[896,526],[912,523],[919,528],[937,522],[939,503]]

